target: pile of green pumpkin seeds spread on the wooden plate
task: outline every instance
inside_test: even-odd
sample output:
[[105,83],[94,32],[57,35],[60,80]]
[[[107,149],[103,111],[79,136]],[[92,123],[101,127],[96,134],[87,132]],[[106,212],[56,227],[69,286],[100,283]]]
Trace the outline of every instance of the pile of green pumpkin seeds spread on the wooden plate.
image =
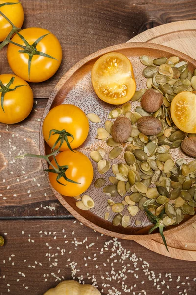
[[[114,225],[127,227],[131,216],[139,210],[148,210],[154,216],[163,212],[164,226],[171,226],[179,224],[186,214],[194,215],[196,207],[196,160],[187,164],[184,158],[180,158],[174,162],[170,154],[170,149],[179,148],[186,136],[196,136],[179,130],[170,115],[170,105],[176,94],[196,90],[196,70],[192,73],[188,70],[187,61],[174,56],[169,59],[142,56],[140,61],[147,66],[142,73],[147,78],[147,89],[160,91],[164,96],[163,105],[155,113],[147,113],[140,106],[132,111],[128,102],[109,113],[105,128],[97,129],[96,138],[106,141],[111,147],[109,159],[115,159],[123,152],[124,162],[111,165],[104,159],[105,150],[100,146],[92,151],[90,156],[98,163],[100,176],[110,168],[113,172],[109,177],[110,185],[105,186],[105,179],[100,177],[94,186],[102,188],[109,197],[107,210],[117,213],[112,221]],[[131,101],[140,102],[147,89],[136,91]],[[122,146],[111,137],[113,122],[109,120],[114,121],[119,116],[127,117],[132,124],[131,134]],[[140,133],[137,120],[142,116],[158,118],[162,131],[152,136]],[[92,119],[95,120],[98,121],[97,118]],[[118,195],[122,202],[115,203],[112,197]],[[129,215],[123,216],[125,207]],[[109,219],[109,212],[105,213],[105,219]],[[141,221],[136,220],[135,223],[140,225]]]

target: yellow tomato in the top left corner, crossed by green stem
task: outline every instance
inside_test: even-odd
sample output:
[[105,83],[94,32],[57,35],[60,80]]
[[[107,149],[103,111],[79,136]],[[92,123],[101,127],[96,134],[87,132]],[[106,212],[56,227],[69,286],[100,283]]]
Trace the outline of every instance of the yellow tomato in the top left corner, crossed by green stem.
[[[0,0],[3,3],[17,3],[19,0]],[[24,12],[21,3],[4,5],[0,11],[18,28],[21,28],[24,21]],[[0,14],[0,42],[2,42],[11,32],[12,25]]]

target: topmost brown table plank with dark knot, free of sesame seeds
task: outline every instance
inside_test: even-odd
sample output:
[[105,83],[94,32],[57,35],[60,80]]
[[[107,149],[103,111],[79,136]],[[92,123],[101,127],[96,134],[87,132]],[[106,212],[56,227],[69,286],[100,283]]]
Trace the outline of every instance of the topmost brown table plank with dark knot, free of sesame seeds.
[[[196,1],[171,0],[22,0],[23,28],[43,27],[53,32],[63,48],[58,72],[42,84],[32,84],[36,98],[48,98],[63,74],[77,61],[114,44],[125,43],[150,27],[178,20],[196,19]],[[6,48],[0,54],[1,69],[11,73]]]

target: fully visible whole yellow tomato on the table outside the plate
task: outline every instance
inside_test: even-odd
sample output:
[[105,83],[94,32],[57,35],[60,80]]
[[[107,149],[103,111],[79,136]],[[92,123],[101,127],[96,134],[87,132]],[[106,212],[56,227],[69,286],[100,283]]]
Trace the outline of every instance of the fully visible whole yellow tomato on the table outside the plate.
[[61,45],[47,29],[23,29],[10,42],[7,59],[17,76],[29,82],[42,82],[58,70],[62,60]]

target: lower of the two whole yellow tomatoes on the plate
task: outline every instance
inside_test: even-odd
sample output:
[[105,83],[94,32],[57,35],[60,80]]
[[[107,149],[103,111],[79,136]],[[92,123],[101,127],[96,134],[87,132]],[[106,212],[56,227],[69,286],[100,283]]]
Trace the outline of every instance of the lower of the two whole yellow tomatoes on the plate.
[[[65,175],[68,179],[78,183],[71,183],[60,177],[57,182],[57,173],[49,172],[49,181],[53,188],[64,196],[75,197],[87,190],[93,180],[93,166],[87,156],[79,151],[66,150],[59,153],[56,157],[59,166],[67,165]],[[53,160],[52,165],[57,168],[57,164]],[[50,165],[49,169],[53,169]]]

